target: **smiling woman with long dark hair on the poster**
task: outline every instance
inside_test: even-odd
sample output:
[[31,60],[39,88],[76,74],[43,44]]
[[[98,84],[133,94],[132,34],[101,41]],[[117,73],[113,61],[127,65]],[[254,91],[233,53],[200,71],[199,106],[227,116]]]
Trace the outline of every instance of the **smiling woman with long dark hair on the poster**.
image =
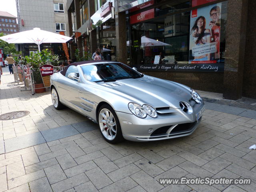
[[[194,43],[196,46],[207,44],[211,42],[210,29],[205,28],[206,20],[204,16],[200,16],[196,19],[194,26],[191,29],[190,34],[194,37]],[[209,61],[210,54],[202,54],[201,56],[195,56],[194,61]]]

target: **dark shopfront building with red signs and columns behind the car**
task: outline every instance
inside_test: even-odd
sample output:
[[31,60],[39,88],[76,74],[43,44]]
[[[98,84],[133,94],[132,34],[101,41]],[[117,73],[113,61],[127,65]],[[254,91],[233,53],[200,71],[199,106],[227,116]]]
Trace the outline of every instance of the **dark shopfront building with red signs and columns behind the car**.
[[[68,0],[71,51],[225,99],[256,98],[254,0]],[[72,22],[69,22],[71,28]],[[104,51],[104,49],[106,51]]]

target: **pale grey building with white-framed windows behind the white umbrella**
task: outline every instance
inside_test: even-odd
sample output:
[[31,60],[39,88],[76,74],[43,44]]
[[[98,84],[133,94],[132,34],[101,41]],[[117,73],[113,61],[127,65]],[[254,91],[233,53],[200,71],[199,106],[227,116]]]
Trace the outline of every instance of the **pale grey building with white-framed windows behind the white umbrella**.
[[[40,28],[50,32],[64,32],[66,36],[70,36],[66,3],[66,0],[16,0],[20,32]],[[59,54],[61,60],[66,60],[62,44],[40,45],[41,50],[46,48]],[[30,52],[36,52],[38,46],[20,44],[19,50],[28,55]]]

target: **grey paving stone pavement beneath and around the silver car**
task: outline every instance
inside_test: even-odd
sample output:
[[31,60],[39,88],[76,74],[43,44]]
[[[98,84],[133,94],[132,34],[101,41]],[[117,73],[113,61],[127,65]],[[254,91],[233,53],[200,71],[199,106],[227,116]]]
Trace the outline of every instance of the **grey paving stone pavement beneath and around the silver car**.
[[[0,192],[255,192],[256,150],[248,148],[256,143],[256,116],[243,116],[244,108],[206,103],[202,122],[190,136],[108,144],[96,124],[68,108],[55,110],[49,92],[21,92],[22,85],[11,83],[6,71],[0,114],[30,114],[0,121]],[[252,184],[159,182],[182,176],[251,178]]]

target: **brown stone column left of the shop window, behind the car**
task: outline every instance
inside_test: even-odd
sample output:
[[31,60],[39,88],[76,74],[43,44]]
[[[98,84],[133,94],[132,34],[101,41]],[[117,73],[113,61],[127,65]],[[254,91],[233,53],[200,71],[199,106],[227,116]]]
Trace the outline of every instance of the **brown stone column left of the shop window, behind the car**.
[[116,60],[127,64],[127,45],[126,45],[126,14],[118,13],[118,1],[115,1],[115,20],[116,20]]

